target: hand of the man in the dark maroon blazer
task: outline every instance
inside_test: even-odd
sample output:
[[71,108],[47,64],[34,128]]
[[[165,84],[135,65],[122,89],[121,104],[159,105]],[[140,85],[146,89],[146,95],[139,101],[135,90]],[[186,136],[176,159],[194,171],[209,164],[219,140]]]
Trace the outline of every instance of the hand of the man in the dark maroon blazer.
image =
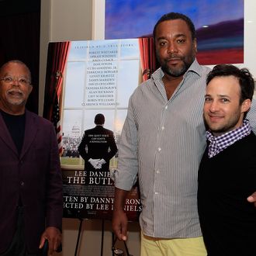
[[46,240],[48,240],[48,254],[53,255],[54,251],[57,251],[57,247],[59,247],[59,245],[61,244],[61,236],[61,231],[58,230],[56,227],[47,227],[47,229],[44,230],[41,236],[39,248],[42,249],[43,244]]

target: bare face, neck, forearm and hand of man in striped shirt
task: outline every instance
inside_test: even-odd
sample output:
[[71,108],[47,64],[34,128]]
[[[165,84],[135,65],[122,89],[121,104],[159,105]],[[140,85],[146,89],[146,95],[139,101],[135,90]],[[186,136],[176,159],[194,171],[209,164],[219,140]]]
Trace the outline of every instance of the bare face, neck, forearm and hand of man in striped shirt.
[[[164,88],[167,98],[175,92],[183,74],[195,60],[196,40],[192,40],[189,26],[182,19],[168,20],[157,26],[157,60],[164,71]],[[127,216],[123,210],[127,191],[115,188],[115,202],[112,213],[112,230],[119,240],[127,239]]]

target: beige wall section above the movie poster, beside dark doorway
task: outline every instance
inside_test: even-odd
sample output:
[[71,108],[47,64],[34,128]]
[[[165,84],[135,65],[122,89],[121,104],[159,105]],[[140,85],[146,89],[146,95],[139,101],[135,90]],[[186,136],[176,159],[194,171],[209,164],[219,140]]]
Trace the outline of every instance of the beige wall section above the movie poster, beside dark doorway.
[[93,0],[41,1],[40,115],[43,112],[48,43],[68,40],[92,40],[92,2]]

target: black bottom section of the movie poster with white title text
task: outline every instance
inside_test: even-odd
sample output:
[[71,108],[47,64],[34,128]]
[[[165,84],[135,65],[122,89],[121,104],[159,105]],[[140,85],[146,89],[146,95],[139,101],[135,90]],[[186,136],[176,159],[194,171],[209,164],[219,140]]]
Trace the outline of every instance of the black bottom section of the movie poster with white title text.
[[[63,170],[64,217],[111,220],[115,188],[109,175],[109,171]],[[129,192],[125,210],[129,220],[138,220],[141,206],[137,185]]]

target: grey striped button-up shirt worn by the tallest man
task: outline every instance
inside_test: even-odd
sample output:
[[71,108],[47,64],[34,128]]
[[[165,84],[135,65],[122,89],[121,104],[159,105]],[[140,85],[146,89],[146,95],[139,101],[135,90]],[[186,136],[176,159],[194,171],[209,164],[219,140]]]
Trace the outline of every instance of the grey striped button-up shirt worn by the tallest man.
[[140,227],[147,236],[201,236],[197,173],[206,148],[202,108],[208,73],[195,60],[168,100],[158,69],[130,97],[115,186],[130,190],[138,175]]

